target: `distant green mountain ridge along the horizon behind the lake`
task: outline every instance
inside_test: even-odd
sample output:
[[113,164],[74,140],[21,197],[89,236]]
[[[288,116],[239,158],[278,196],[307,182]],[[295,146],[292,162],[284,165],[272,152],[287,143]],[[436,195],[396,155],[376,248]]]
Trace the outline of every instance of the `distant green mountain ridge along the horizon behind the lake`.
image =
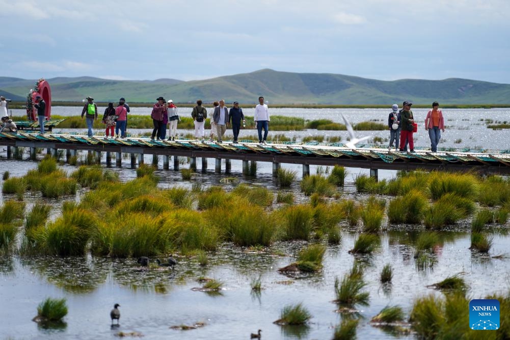
[[[274,104],[387,105],[411,100],[416,104],[507,104],[510,84],[470,79],[400,79],[382,81],[337,74],[281,72],[272,69],[206,80],[108,80],[94,77],[46,79],[54,101],[151,103],[160,95],[176,103],[256,103],[260,95]],[[24,99],[36,80],[0,77],[0,93]],[[19,100],[12,98],[13,100]]]

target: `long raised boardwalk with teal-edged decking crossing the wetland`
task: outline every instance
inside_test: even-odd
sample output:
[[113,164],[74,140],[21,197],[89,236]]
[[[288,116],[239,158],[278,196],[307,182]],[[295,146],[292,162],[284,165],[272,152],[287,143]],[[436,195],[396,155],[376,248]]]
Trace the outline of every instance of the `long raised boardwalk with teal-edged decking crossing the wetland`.
[[[216,160],[241,160],[272,162],[273,169],[282,163],[302,164],[303,174],[309,165],[342,165],[346,167],[392,170],[445,170],[476,171],[482,174],[510,175],[510,151],[455,150],[431,153],[418,150],[416,153],[389,152],[373,145],[359,145],[358,149],[346,148],[342,143],[283,143],[273,142],[259,145],[252,141],[202,142],[181,139],[176,141],[150,140],[146,137],[132,136],[113,139],[104,136],[87,137],[66,133],[0,133],[0,144],[11,148],[31,148],[31,157],[35,159],[35,149],[45,148],[57,153],[57,150],[72,152],[89,151],[100,153],[129,153],[143,155],[190,157],[192,165],[196,158],[214,158]],[[142,155],[142,157],[140,157]],[[174,158],[177,158],[174,157]],[[167,160],[168,161],[168,160]],[[244,163],[243,163],[244,167]],[[376,173],[375,173],[376,176]]]

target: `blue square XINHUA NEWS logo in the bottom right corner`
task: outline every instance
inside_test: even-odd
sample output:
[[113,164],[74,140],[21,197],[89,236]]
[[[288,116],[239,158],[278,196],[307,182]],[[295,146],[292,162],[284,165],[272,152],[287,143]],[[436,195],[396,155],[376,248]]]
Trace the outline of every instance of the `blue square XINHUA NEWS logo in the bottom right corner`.
[[472,330],[499,329],[499,301],[474,299],[469,302],[469,328]]

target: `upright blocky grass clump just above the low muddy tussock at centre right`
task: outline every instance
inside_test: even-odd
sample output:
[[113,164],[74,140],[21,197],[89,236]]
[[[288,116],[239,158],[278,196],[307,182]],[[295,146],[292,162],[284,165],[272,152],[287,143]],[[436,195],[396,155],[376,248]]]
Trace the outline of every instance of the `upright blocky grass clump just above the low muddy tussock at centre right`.
[[294,205],[283,209],[285,239],[308,240],[313,227],[314,209],[309,205]]

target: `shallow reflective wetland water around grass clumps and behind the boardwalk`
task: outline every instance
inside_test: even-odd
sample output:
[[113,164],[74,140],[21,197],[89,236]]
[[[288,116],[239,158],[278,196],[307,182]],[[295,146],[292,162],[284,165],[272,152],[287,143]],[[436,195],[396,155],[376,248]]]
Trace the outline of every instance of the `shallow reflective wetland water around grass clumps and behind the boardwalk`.
[[[57,111],[57,108],[55,108]],[[65,108],[72,110],[72,108]],[[79,114],[73,112],[72,115]],[[141,110],[137,112],[135,110]],[[187,110],[187,109],[184,109]],[[13,110],[14,111],[14,110]],[[134,108],[134,114],[150,112],[148,109]],[[187,112],[187,111],[184,111]],[[414,110],[415,116],[423,120],[425,109]],[[382,109],[274,109],[272,114],[294,115],[306,119],[326,118],[342,122],[341,113],[351,123],[378,119],[385,123],[389,110]],[[447,130],[443,134],[444,142],[440,147],[472,149],[509,149],[508,131],[493,131],[486,128],[480,119],[505,120],[510,116],[508,109],[493,110],[444,110]],[[13,112],[13,114],[16,114]],[[54,114],[61,114],[54,111]],[[183,114],[183,112],[181,112]],[[245,114],[252,114],[245,109]],[[181,131],[184,132],[184,131]],[[243,134],[243,130],[241,134]],[[246,132],[254,134],[255,131]],[[278,133],[270,131],[271,133]],[[285,132],[300,138],[308,135],[339,135],[345,140],[346,131]],[[359,132],[360,136],[374,135],[387,138],[387,131]],[[420,128],[415,144],[426,147],[428,136]],[[455,142],[462,139],[461,142]],[[5,149],[5,148],[3,148]],[[0,149],[0,173],[9,171],[12,176],[22,176],[37,166],[28,160],[6,160],[5,151]],[[27,158],[28,155],[25,155]],[[104,161],[104,160],[103,160]],[[146,163],[150,163],[147,156]],[[111,169],[119,173],[122,181],[134,179],[136,173],[129,168],[129,159],[123,160],[123,167]],[[277,190],[270,163],[258,163],[257,177],[244,177],[241,174],[241,162],[232,161],[232,173],[228,176],[239,181],[222,184],[220,179],[225,174],[214,173],[214,162],[210,161],[206,172],[200,172],[201,162],[197,162],[198,172],[191,181],[183,181],[181,174],[174,170],[160,169],[156,174],[161,178],[162,188],[174,185],[191,188],[193,183],[203,185],[222,185],[230,189],[238,183],[261,184],[271,190]],[[103,162],[103,166],[105,166]],[[183,164],[182,167],[188,167]],[[308,202],[299,191],[301,166],[282,164],[283,167],[297,171],[296,182],[292,186],[295,202]],[[71,173],[74,166],[62,168]],[[222,166],[224,168],[224,166]],[[314,174],[317,167],[311,166]],[[339,188],[342,198],[364,200],[365,195],[355,192],[353,178],[366,174],[365,169],[347,169],[346,185]],[[395,172],[379,172],[379,178],[393,178]],[[84,191],[76,197],[47,200],[52,205],[52,219],[60,213],[60,206],[65,200],[80,200]],[[14,199],[13,195],[3,195],[2,203]],[[25,193],[25,211],[40,199],[40,194],[32,196]],[[391,199],[391,198],[388,198]],[[235,213],[235,211],[233,211]],[[339,245],[327,246],[324,255],[324,267],[321,272],[298,277],[288,277],[277,272],[295,261],[297,252],[307,242],[276,242],[261,251],[249,251],[246,248],[224,244],[217,252],[208,253],[209,263],[202,267],[196,258],[186,258],[175,254],[178,264],[174,271],[151,269],[140,271],[136,260],[111,259],[106,257],[30,257],[17,254],[0,256],[0,339],[97,339],[115,338],[114,334],[137,331],[146,339],[242,339],[249,338],[250,333],[262,329],[265,339],[329,339],[333,337],[334,327],[342,320],[342,315],[335,312],[338,308],[332,303],[335,299],[335,278],[342,278],[351,269],[355,259],[366,264],[366,291],[370,301],[366,306],[356,306],[359,314],[358,338],[386,339],[394,338],[379,328],[368,324],[370,319],[387,305],[400,305],[409,316],[413,300],[417,297],[434,293],[426,286],[443,280],[456,273],[461,273],[470,286],[471,298],[483,298],[493,293],[504,293],[510,287],[510,260],[495,259],[492,256],[510,253],[510,236],[506,232],[508,223],[491,232],[494,237],[489,255],[472,253],[470,247],[470,222],[461,221],[452,229],[440,233],[442,246],[437,250],[437,262],[432,268],[420,270],[416,266],[414,241],[423,226],[392,226],[387,221],[383,226],[388,230],[381,233],[381,247],[371,256],[351,255],[348,250],[353,247],[359,235],[345,222],[340,224],[342,241]],[[412,230],[412,231],[410,231]],[[393,266],[393,283],[383,287],[379,275],[386,263]],[[193,287],[201,286],[196,279],[201,276],[214,278],[223,282],[219,295],[194,292]],[[250,282],[261,277],[263,290],[260,295],[251,294]],[[32,322],[37,305],[46,297],[66,298],[68,314],[67,326],[63,329],[42,329]],[[281,327],[273,322],[279,318],[281,309],[287,304],[303,303],[312,314],[308,327]],[[115,303],[120,304],[120,327],[111,329],[109,311]],[[467,308],[467,306],[466,306]],[[175,325],[193,325],[203,322],[204,327],[181,331],[169,327]],[[413,338],[412,335],[400,338]]]

